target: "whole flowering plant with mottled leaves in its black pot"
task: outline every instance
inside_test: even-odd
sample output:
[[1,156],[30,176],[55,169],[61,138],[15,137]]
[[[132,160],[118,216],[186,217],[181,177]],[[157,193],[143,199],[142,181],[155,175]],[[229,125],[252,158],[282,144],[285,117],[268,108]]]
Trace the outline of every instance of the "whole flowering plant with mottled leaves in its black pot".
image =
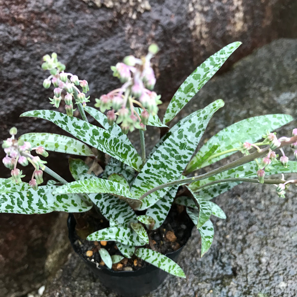
[[[297,148],[297,129],[291,137],[277,138],[272,132],[290,122],[289,115],[259,116],[234,123],[211,137],[196,154],[207,124],[224,106],[223,100],[170,127],[171,120],[239,45],[227,45],[200,65],[175,93],[163,121],[157,116],[160,96],[152,91],[155,76],[150,61],[158,51],[156,45],[150,45],[146,57],[128,56],[112,67],[122,86],[96,99],[99,110],[87,106],[86,80],[65,72],[56,53],[44,56],[42,68],[50,75],[43,86],[53,85],[50,102],[57,108],[65,103],[66,114],[36,110],[21,116],[51,121],[72,137],[27,133],[16,139],[16,128],[10,129],[11,137],[2,146],[7,154],[3,163],[12,176],[0,179],[0,210],[73,213],[68,224],[74,249],[100,275],[103,284],[122,295],[137,296],[154,289],[166,276],[161,271],[185,277],[171,259],[175,257],[171,252],[178,254],[186,242],[193,226],[190,219],[201,235],[201,256],[209,250],[214,235],[211,215],[226,218],[224,211],[210,201],[212,198],[241,182],[274,184],[276,194],[284,197],[286,188],[297,183],[285,180],[283,175],[279,179],[265,178],[297,171],[296,163],[289,161],[283,150],[285,146]],[[82,119],[73,116],[74,106]],[[98,125],[90,124],[86,113]],[[160,130],[160,140],[149,153],[146,126]],[[140,154],[127,137],[128,132],[139,133]],[[75,181],[67,182],[36,155],[46,157],[47,151],[89,157],[92,162],[88,166],[83,159],[70,158]],[[206,173],[199,172],[235,152],[242,156]],[[34,171],[30,182],[25,183],[17,167],[29,164]],[[98,164],[103,171],[99,176],[95,170]],[[55,180],[40,185],[43,172]]]

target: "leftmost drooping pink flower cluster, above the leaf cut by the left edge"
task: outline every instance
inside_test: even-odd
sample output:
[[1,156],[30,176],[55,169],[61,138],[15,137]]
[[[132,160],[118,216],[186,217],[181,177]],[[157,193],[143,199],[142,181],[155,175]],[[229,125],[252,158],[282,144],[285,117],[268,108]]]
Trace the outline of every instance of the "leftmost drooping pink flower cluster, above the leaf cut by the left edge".
[[2,147],[6,153],[6,156],[3,158],[3,164],[5,167],[11,169],[11,176],[16,183],[21,182],[23,177],[21,170],[17,167],[17,164],[21,166],[27,166],[29,163],[35,168],[32,178],[29,182],[29,185],[37,190],[37,185],[43,182],[43,171],[44,164],[46,161],[40,159],[39,156],[33,156],[31,154],[32,150],[35,150],[37,154],[44,157],[48,156],[47,151],[42,147],[32,148],[30,142],[24,141],[22,139],[16,140],[15,135],[17,129],[15,127],[11,128],[9,131],[11,138],[5,140],[2,144]]

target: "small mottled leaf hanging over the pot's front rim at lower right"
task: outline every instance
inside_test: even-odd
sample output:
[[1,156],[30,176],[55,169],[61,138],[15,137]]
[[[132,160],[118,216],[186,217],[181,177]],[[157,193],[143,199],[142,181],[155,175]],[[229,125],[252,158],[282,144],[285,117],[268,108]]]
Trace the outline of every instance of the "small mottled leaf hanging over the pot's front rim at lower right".
[[181,267],[163,254],[150,249],[141,248],[135,251],[135,255],[172,275],[185,278]]

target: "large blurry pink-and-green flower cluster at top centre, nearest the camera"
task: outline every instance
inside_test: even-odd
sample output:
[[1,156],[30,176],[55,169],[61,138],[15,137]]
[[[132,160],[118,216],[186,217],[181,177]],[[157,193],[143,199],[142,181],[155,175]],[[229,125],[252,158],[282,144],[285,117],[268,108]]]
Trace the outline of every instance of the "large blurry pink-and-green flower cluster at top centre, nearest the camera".
[[[153,92],[156,82],[150,60],[157,53],[155,44],[149,46],[148,54],[142,59],[133,56],[124,58],[123,63],[112,66],[114,76],[123,83],[122,87],[96,98],[95,107],[99,107],[112,125],[121,124],[124,133],[137,129],[145,129],[149,116],[158,112],[160,96]],[[134,109],[134,104],[141,107],[142,111]]]

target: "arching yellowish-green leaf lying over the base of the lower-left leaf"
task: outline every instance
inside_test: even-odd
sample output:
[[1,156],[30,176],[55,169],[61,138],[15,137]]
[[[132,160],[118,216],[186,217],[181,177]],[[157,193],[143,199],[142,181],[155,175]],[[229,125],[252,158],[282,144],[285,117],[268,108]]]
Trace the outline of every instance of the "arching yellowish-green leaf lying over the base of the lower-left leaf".
[[89,178],[69,182],[56,188],[55,194],[96,194],[107,193],[119,198],[128,198],[129,200],[138,200],[133,198],[130,191],[119,182],[106,180],[102,178]]

